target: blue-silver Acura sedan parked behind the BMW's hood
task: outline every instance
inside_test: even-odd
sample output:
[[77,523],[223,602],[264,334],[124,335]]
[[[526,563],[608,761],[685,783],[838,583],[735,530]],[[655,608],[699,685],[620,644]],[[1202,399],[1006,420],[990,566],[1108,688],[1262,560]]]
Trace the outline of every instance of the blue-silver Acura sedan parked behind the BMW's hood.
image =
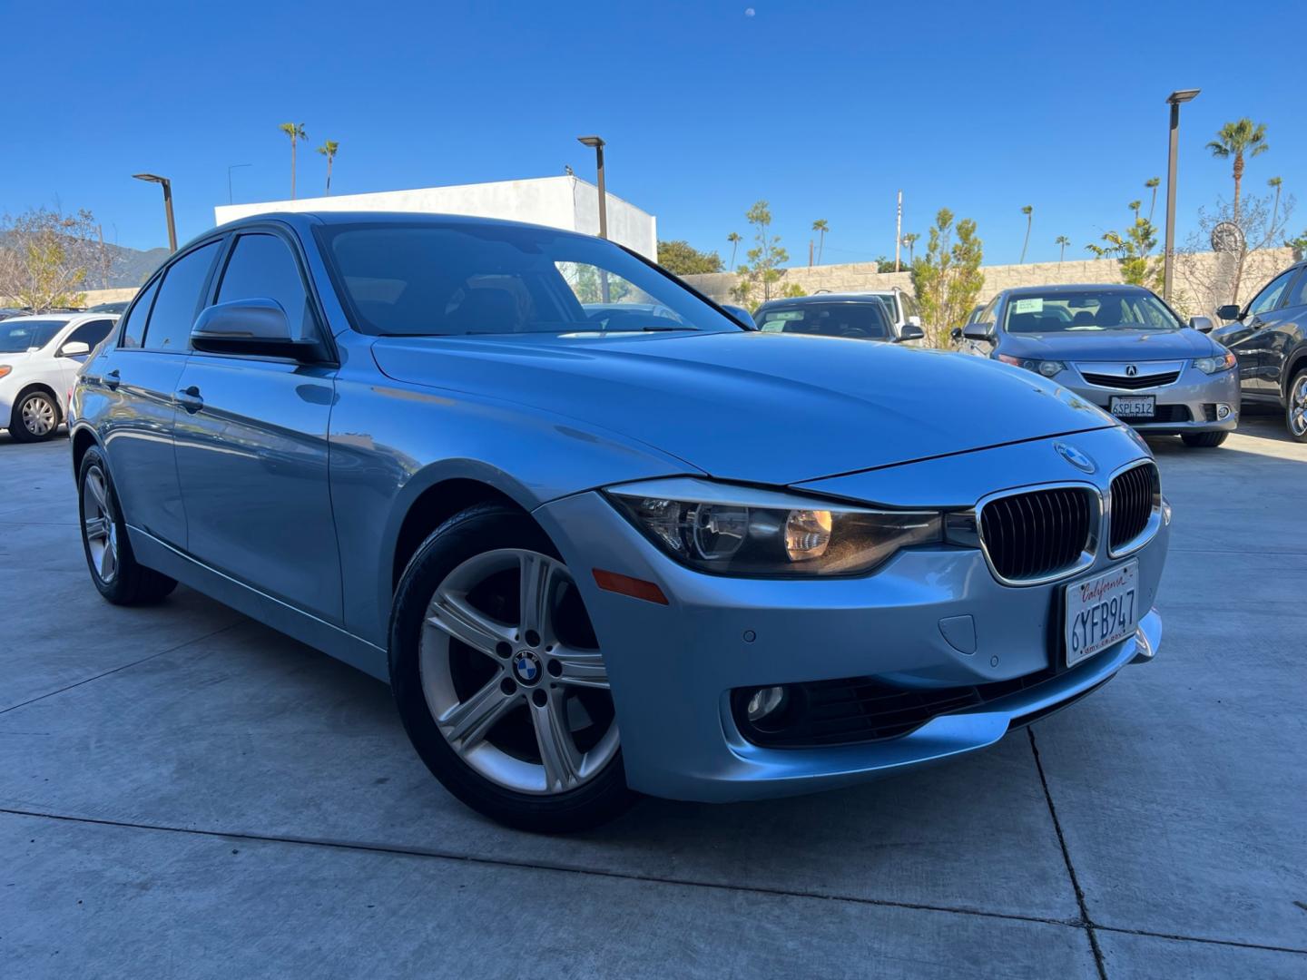
[[1141,431],[1214,447],[1239,423],[1235,355],[1142,286],[1008,289],[955,332],[962,350],[1051,378]]

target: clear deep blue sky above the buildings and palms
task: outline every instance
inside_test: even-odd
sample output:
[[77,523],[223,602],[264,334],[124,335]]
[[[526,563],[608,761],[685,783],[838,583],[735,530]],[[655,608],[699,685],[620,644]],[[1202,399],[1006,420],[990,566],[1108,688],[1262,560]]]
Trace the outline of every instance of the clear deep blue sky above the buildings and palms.
[[[314,148],[340,141],[333,191],[350,193],[561,174],[592,178],[579,133],[608,140],[609,189],[654,212],[660,238],[720,248],[771,203],[793,263],[826,218],[829,261],[894,247],[940,206],[972,217],[985,260],[1029,260],[1125,223],[1166,175],[1165,97],[1184,107],[1183,242],[1199,204],[1230,196],[1230,165],[1204,150],[1242,115],[1268,125],[1247,192],[1268,176],[1307,209],[1307,111],[1293,51],[1265,44],[1303,24],[1300,3],[1170,4],[9,3],[0,106],[0,212],[90,208],[106,237],[165,243],[227,200],[289,193],[303,122],[301,195],[319,192]],[[753,9],[753,16],[746,13]],[[1256,44],[1256,47],[1249,47]],[[1270,67],[1259,59],[1270,56]],[[1289,57],[1290,60],[1285,60]],[[1276,67],[1278,65],[1278,68]],[[1162,206],[1158,206],[1161,223]],[[1307,225],[1300,210],[1294,225]]]

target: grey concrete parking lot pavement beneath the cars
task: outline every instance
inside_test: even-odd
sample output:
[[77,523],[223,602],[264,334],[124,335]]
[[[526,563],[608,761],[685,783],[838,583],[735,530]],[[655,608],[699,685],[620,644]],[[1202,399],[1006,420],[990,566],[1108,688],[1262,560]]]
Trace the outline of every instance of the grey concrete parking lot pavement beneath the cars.
[[559,839],[350,668],[105,604],[67,440],[0,435],[0,975],[1307,976],[1307,446],[1154,448],[1153,664],[932,770]]

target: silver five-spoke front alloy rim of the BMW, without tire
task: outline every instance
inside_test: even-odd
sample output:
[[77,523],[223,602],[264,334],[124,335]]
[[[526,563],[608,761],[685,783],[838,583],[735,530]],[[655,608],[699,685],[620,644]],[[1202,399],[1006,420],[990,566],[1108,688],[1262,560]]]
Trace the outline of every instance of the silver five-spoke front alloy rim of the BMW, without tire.
[[576,789],[618,750],[603,653],[554,558],[499,549],[454,568],[427,604],[418,666],[440,734],[506,789]]

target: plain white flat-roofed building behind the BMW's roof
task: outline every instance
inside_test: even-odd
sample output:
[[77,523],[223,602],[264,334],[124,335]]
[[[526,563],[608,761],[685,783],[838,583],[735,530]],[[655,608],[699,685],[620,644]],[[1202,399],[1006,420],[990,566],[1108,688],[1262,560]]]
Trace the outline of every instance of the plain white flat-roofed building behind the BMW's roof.
[[[608,196],[608,237],[648,259],[657,259],[657,220],[621,197]],[[294,201],[222,204],[218,225],[278,210],[404,210],[422,214],[476,214],[528,221],[567,231],[599,234],[599,188],[575,176],[541,176],[490,184],[421,187],[414,191],[299,197]]]

